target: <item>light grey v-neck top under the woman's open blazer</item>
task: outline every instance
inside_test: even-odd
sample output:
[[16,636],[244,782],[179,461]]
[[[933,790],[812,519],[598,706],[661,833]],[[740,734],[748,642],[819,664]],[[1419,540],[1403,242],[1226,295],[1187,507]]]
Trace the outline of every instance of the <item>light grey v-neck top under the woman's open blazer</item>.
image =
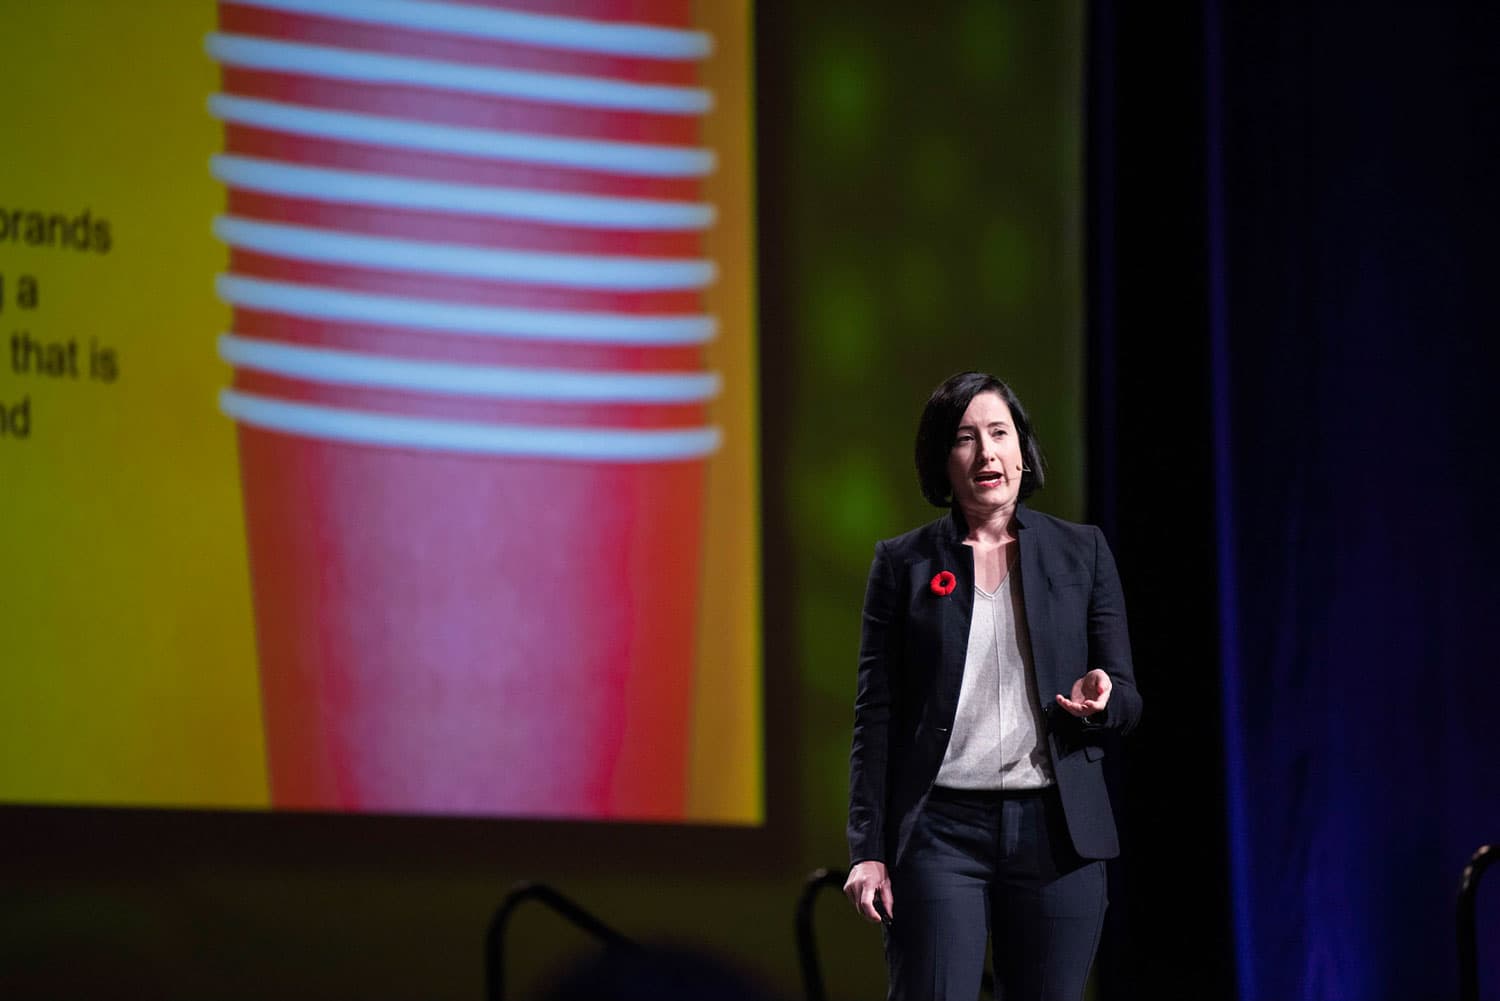
[[1032,672],[1023,584],[1012,567],[993,594],[974,588],[958,711],[938,785],[1040,789],[1053,783]]

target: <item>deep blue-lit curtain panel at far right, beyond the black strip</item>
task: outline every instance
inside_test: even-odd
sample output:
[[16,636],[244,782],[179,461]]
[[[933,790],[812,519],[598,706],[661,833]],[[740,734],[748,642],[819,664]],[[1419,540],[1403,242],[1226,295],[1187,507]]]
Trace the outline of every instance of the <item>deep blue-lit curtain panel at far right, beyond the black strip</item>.
[[1209,0],[1203,39],[1240,1001],[1450,998],[1500,840],[1500,32]]

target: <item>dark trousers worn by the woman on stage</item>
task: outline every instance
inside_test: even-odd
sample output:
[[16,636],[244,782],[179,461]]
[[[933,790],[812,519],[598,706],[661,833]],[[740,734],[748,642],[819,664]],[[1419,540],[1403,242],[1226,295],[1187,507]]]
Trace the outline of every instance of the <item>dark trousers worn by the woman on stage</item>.
[[1080,1001],[1104,926],[1104,863],[1068,840],[1054,788],[933,789],[891,873],[890,1001]]

